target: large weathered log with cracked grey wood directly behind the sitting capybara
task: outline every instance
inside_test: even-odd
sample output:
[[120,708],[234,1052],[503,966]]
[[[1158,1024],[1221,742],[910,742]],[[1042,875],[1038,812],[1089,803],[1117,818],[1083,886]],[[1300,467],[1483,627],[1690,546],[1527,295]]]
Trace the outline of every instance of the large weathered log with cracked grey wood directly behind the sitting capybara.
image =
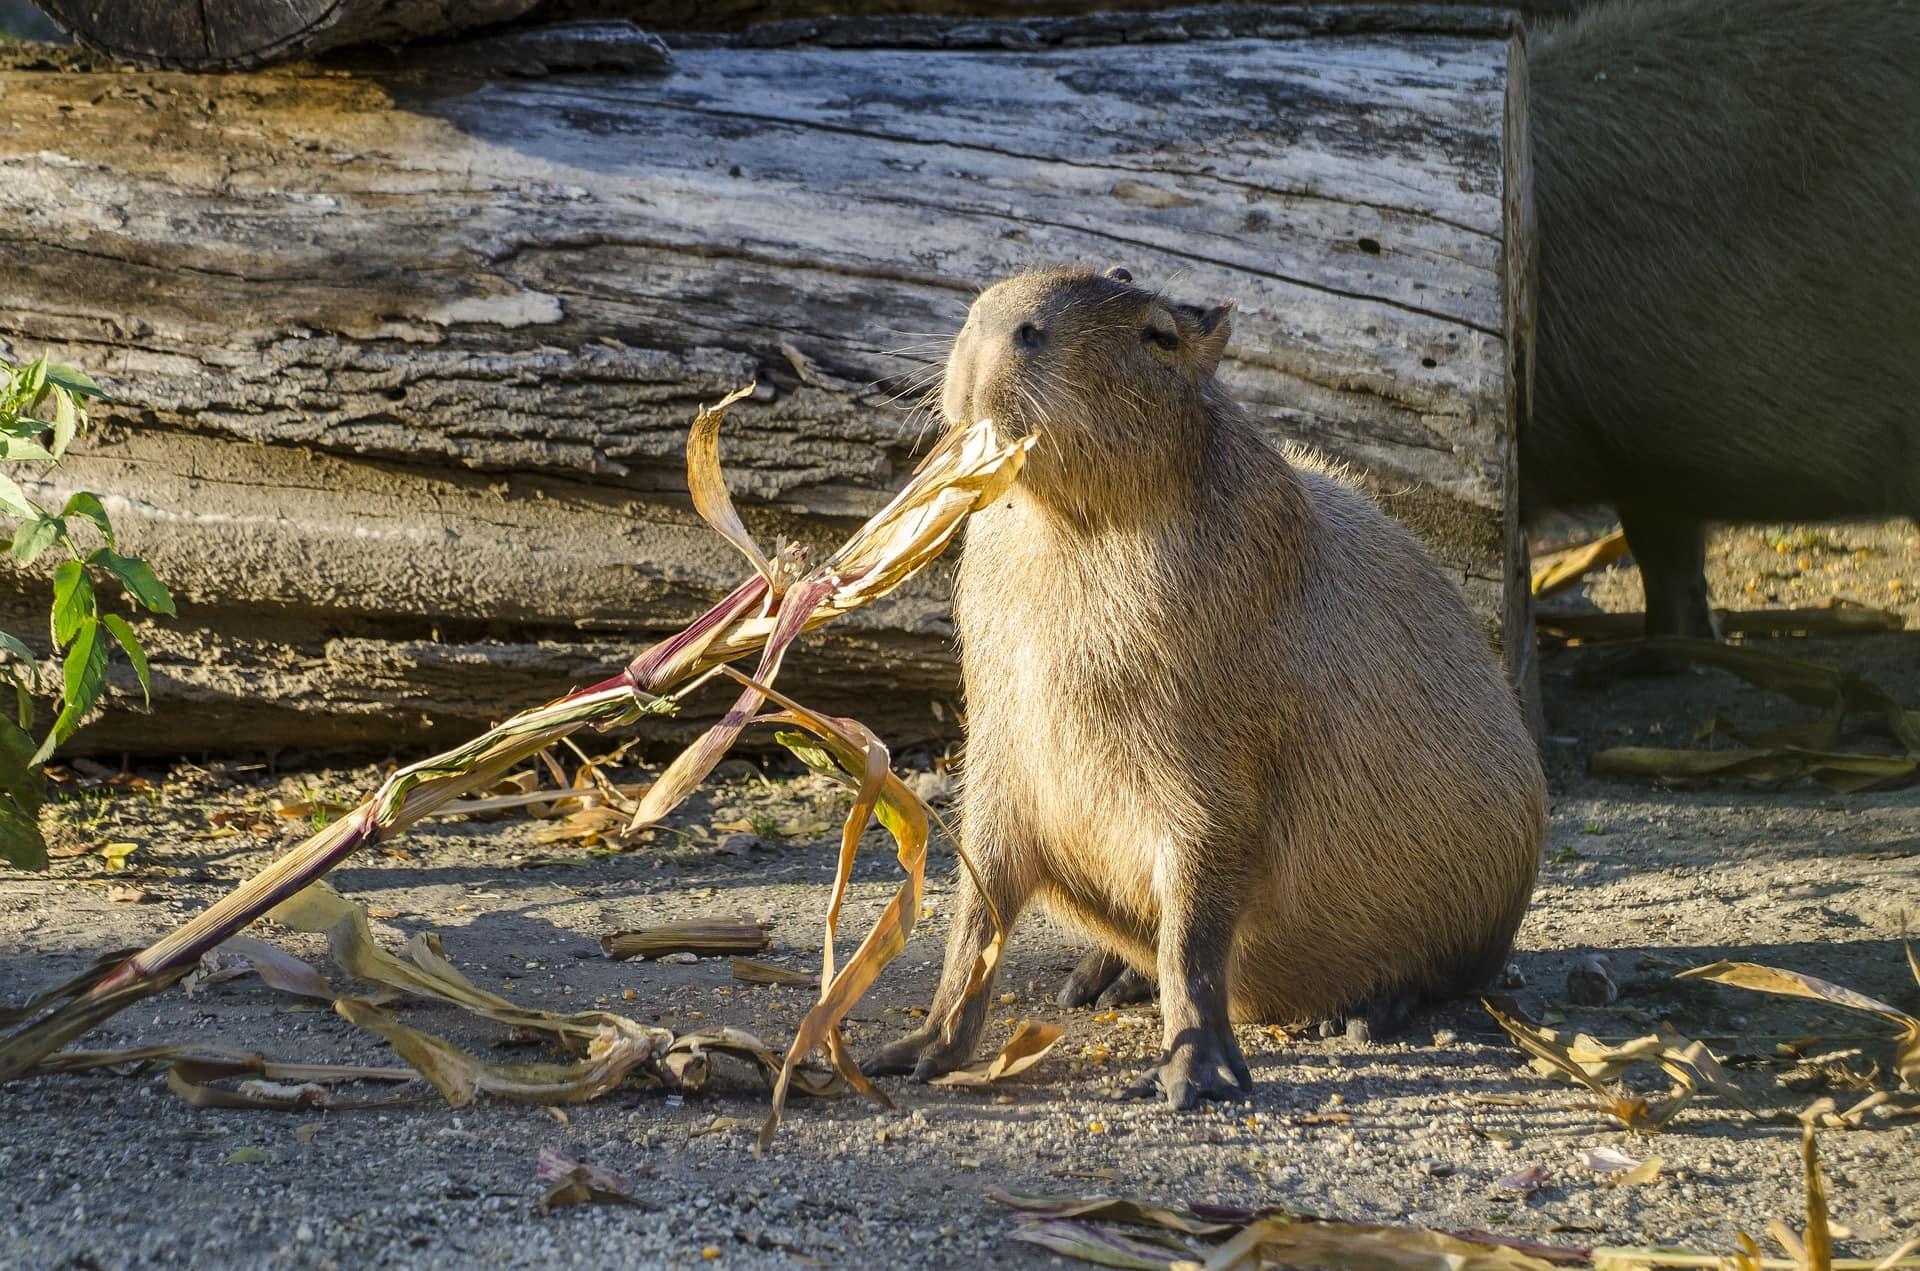
[[[584,680],[741,574],[685,501],[697,403],[758,380],[735,493],[826,547],[914,465],[895,399],[973,290],[1062,261],[1236,296],[1233,392],[1526,632],[1503,19],[1267,21],[668,75],[0,71],[0,348],[121,399],[48,493],[113,495],[180,599],[142,628],[156,714],[79,745],[451,741]],[[945,586],[808,637],[787,682],[948,733]],[[44,626],[40,588],[0,574],[6,630]]]

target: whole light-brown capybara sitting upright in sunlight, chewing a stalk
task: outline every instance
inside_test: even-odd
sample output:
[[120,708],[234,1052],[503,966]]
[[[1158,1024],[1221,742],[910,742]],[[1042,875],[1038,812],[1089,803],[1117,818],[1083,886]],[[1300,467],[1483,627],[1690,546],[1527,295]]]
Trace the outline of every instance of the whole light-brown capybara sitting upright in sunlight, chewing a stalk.
[[[1158,977],[1177,1104],[1231,1092],[1183,1046],[1244,1089],[1229,1004],[1290,1021],[1484,983],[1546,829],[1459,591],[1213,384],[1227,330],[1227,307],[1023,275],[973,305],[943,403],[1041,432],[954,593],[968,851],[1008,923],[1039,897]],[[991,983],[947,1016],[989,931],[962,874],[929,1023],[876,1071],[966,1062]]]

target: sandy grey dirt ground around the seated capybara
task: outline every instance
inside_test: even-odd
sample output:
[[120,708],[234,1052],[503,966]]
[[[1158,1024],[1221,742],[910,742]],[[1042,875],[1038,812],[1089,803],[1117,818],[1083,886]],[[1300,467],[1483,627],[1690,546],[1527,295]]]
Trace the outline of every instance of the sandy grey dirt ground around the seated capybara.
[[[1897,609],[1920,628],[1920,532],[1908,522],[1734,530],[1716,540],[1713,582],[1722,603],[1847,595]],[[1559,603],[1636,609],[1634,570],[1615,566]],[[1768,647],[1849,666],[1920,705],[1920,636]],[[1116,1102],[1158,1046],[1158,1016],[1152,1006],[1056,1008],[1052,993],[1081,945],[1029,916],[1002,975],[1010,996],[991,1041],[1018,1018],[1066,1025],[1037,1069],[985,1092],[889,1081],[895,1112],[858,1098],[801,1100],[764,1160],[751,1146],[766,1092],[745,1067],[697,1094],[618,1091],[564,1121],[493,1100],[461,1110],[438,1100],[380,1112],[198,1110],[152,1071],[0,1087],[0,1265],[1064,1265],[1010,1238],[1016,1221],[983,1198],[993,1187],[1279,1204],[1561,1244],[1730,1250],[1736,1231],[1799,1213],[1791,1112],[1822,1094],[1841,1106],[1859,1098],[1849,1073],[1866,1079],[1887,1066],[1891,1029],[1820,1002],[1674,981],[1672,971],[1755,960],[1920,1008],[1899,941],[1920,925],[1920,787],[1837,795],[1811,781],[1668,789],[1596,779],[1586,774],[1594,751],[1690,745],[1695,724],[1716,712],[1745,726],[1814,714],[1720,672],[1620,678],[1611,655],[1594,645],[1544,659],[1553,824],[1513,954],[1524,983],[1509,991],[1569,1033],[1628,1039],[1670,1019],[1728,1060],[1753,1112],[1699,1100],[1668,1133],[1638,1139],[1584,1106],[1580,1092],[1530,1071],[1471,1002],[1377,1044],[1244,1027],[1258,1083],[1246,1106],[1171,1114]],[[1849,743],[1891,749],[1872,716],[1851,722]],[[474,981],[515,1000],[607,1004],[676,1031],[732,1023],[778,1044],[804,1012],[806,989],[739,985],[726,958],[611,962],[597,945],[618,927],[747,912],[772,922],[764,960],[818,966],[839,795],[780,764],[730,774],[674,818],[672,833],[630,854],[536,843],[543,822],[524,816],[436,822],[403,839],[405,856],[355,858],[332,879],[372,906],[382,941],[397,947],[438,931]],[[100,950],[171,929],[311,827],[311,818],[276,816],[276,799],[348,797],[378,768],[269,772],[227,760],[132,776],[75,774],[58,810],[56,837],[67,849],[134,843],[125,870],[108,870],[88,851],[58,860],[48,875],[0,875],[0,1000],[21,1000]],[[261,829],[204,837],[217,814],[236,810],[259,814]],[[728,829],[739,824],[749,829]],[[952,870],[950,852],[937,847],[929,918],[856,1008],[847,1029],[856,1050],[902,1031],[908,1012],[925,1006]],[[847,931],[864,931],[895,879],[887,841],[874,831]],[[261,933],[326,966],[319,937]],[[1565,1000],[1567,971],[1596,950],[1609,954],[1620,996],[1605,1008],[1574,1006]],[[399,1010],[484,1054],[528,1058],[524,1046],[501,1048],[505,1029],[451,1008]],[[1803,1037],[1828,1039],[1805,1056],[1839,1060],[1782,1060],[1780,1043]],[[384,1043],[324,1004],[252,977],[194,998],[169,991],[86,1044],[157,1041],[392,1062]],[[1884,1071],[1878,1083],[1887,1085]],[[1665,1089],[1645,1075],[1630,1085]],[[543,1146],[626,1175],[657,1208],[541,1213]],[[1657,1154],[1665,1165],[1653,1183],[1622,1187],[1582,1163],[1594,1148]],[[1845,1252],[1920,1235],[1920,1121],[1832,1131],[1822,1154]],[[1534,1190],[1501,1183],[1534,1165]]]

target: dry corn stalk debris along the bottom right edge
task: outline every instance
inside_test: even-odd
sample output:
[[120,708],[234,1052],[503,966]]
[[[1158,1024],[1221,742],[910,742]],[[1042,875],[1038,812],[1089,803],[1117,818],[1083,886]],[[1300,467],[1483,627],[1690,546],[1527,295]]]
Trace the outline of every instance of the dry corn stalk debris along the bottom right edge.
[[[1622,1163],[1609,1171],[1657,1171],[1659,1158]],[[1020,1215],[1016,1240],[1102,1267],[1139,1271],[1261,1271],[1263,1267],[1365,1267],[1382,1271],[1655,1271],[1657,1267],[1713,1267],[1724,1271],[1897,1271],[1920,1267],[1920,1238],[1880,1258],[1834,1258],[1826,1183],[1820,1177],[1812,1129],[1801,1140],[1807,1188],[1807,1225],[1799,1231],[1774,1217],[1766,1235],[1786,1252],[1763,1256],[1749,1235],[1740,1235],[1734,1254],[1676,1248],[1582,1248],[1540,1244],[1486,1231],[1428,1231],[1382,1223],[1346,1223],[1286,1210],[1235,1210],[1227,1206],[1156,1206],[1116,1196],[1023,1196],[989,1190]],[[1653,1165],[1649,1171],[1647,1165]],[[1624,1179],[1622,1179],[1624,1181]],[[1125,1229],[1125,1231],[1123,1231]]]

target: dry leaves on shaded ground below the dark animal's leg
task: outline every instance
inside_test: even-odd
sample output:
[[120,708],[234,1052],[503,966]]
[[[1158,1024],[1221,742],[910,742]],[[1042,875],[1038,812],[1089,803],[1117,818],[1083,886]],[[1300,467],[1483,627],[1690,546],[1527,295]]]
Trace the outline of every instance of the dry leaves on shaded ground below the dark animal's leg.
[[[1910,710],[1864,676],[1807,659],[1764,653],[1741,645],[1663,636],[1645,647],[1692,662],[1718,666],[1747,683],[1820,707],[1822,718],[1763,733],[1741,731],[1715,716],[1701,728],[1701,741],[1730,733],[1743,745],[1728,751],[1617,747],[1590,760],[1596,776],[1638,776],[1663,781],[1747,778],[1776,785],[1812,778],[1830,789],[1857,793],[1903,785],[1920,776],[1920,710]],[[1878,714],[1903,753],[1839,751],[1841,730],[1853,712]]]

